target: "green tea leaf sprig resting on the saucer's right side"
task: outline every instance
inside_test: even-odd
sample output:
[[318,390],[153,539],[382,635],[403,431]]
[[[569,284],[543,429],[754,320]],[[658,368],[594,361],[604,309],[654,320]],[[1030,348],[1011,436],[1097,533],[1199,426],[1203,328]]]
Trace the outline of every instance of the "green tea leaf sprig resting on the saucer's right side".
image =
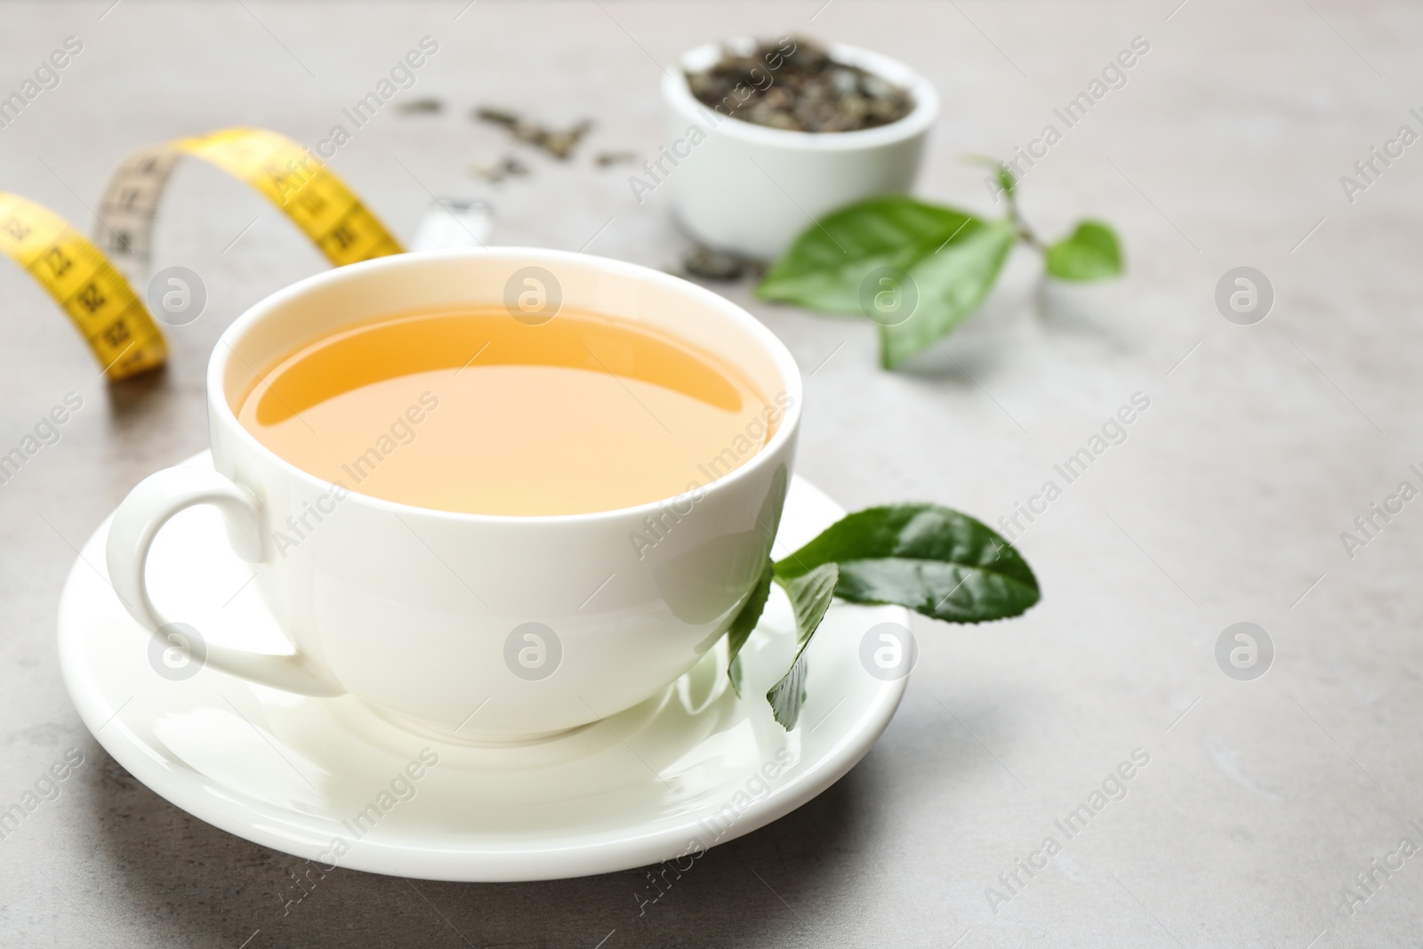
[[1039,600],[1037,578],[998,532],[936,504],[894,504],[847,515],[781,561],[767,558],[731,622],[727,674],[741,694],[740,652],[756,629],[771,583],[795,615],[795,657],[766,693],[781,727],[795,727],[805,701],[805,647],[838,596],[894,603],[951,623],[1019,616]]

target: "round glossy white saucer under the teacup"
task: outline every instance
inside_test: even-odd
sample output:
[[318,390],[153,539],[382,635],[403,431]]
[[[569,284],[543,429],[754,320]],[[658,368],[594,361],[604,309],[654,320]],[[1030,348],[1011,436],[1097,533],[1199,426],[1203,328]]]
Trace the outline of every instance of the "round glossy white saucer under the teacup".
[[[776,553],[842,515],[795,478]],[[764,693],[790,664],[793,623],[773,588],[741,653],[744,699],[726,680],[723,642],[662,696],[573,734],[518,747],[448,744],[401,730],[350,696],[293,696],[213,669],[181,682],[159,676],[148,635],[108,586],[107,535],[105,521],[60,600],[60,664],[84,724],[189,814],[323,866],[495,882],[693,859],[834,784],[904,694],[904,680],[865,672],[859,642],[877,623],[908,626],[908,612],[837,602],[808,650],[800,723],[783,731]],[[208,642],[285,652],[255,589],[243,586],[250,576],[206,508],[174,518],[149,558],[154,599],[168,615]],[[411,763],[418,780],[406,774]]]

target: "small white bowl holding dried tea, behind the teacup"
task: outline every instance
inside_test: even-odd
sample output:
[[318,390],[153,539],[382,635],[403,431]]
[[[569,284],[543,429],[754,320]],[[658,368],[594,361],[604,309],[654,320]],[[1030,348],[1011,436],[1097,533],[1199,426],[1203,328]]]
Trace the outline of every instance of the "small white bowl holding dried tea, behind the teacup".
[[[739,53],[756,48],[741,38],[682,55],[677,71],[662,81],[672,137],[638,175],[650,185],[643,191],[663,184],[672,189],[673,209],[693,238],[717,250],[770,259],[828,211],[914,188],[925,137],[939,114],[939,95],[928,80],[889,57],[832,43],[825,50],[832,60],[908,90],[914,111],[854,132],[768,128],[730,118],[692,95],[686,73],[713,65],[723,46]],[[768,67],[767,73],[776,75]],[[656,175],[649,165],[657,165]]]

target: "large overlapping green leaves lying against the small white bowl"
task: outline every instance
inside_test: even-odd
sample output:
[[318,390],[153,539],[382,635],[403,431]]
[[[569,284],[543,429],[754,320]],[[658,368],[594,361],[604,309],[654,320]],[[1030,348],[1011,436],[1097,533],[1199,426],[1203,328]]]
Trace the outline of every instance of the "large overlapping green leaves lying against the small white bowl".
[[894,369],[978,309],[1015,239],[1006,221],[871,198],[807,228],[756,292],[869,316],[879,323],[881,361]]

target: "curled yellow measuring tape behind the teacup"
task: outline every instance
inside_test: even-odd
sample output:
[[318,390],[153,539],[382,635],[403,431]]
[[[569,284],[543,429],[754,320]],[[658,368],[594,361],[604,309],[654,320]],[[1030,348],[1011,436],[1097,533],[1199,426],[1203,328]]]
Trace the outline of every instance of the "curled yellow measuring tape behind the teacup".
[[184,155],[263,193],[334,266],[403,250],[316,155],[263,128],[229,128],[132,152],[104,189],[98,246],[41,205],[0,192],[0,249],[64,307],[110,378],[166,359],[162,332],[129,282],[142,286],[148,279],[154,219],[168,175]]

